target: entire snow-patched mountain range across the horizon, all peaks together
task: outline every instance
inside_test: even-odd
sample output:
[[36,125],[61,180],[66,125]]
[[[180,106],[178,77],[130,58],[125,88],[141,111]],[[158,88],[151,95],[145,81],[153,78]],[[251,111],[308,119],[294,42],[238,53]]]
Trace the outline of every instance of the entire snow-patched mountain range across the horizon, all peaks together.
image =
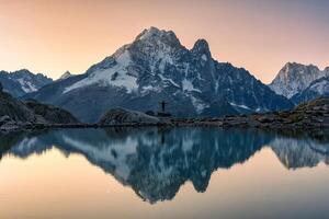
[[53,81],[27,70],[2,71],[0,82],[14,96],[57,105],[93,123],[115,107],[156,112],[160,101],[183,117],[287,110],[328,95],[328,77],[329,67],[288,62],[265,85],[242,68],[214,60],[205,39],[188,49],[173,32],[150,27],[82,74],[66,72]]

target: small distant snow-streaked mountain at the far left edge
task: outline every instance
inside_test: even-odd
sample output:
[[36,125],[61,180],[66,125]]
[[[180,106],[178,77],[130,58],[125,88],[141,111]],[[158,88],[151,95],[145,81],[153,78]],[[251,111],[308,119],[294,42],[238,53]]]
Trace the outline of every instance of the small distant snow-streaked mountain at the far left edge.
[[42,73],[34,74],[26,69],[14,72],[0,71],[0,82],[5,92],[19,97],[35,92],[53,80]]

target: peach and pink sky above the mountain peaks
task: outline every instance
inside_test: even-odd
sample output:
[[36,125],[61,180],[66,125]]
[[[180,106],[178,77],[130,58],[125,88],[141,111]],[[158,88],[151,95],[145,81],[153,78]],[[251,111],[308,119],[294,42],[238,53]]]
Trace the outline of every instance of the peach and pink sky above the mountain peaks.
[[54,79],[83,73],[144,30],[172,30],[191,48],[269,83],[287,61],[329,66],[327,0],[0,0],[0,69]]

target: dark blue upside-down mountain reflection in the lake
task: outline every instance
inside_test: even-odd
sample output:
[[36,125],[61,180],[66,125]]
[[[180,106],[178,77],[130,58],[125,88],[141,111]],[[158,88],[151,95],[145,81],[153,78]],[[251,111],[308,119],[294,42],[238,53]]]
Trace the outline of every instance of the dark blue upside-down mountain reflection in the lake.
[[205,192],[217,169],[243,163],[270,147],[286,169],[329,164],[327,141],[253,129],[57,129],[0,138],[1,158],[22,159],[53,147],[78,153],[151,204],[170,200],[186,182]]

